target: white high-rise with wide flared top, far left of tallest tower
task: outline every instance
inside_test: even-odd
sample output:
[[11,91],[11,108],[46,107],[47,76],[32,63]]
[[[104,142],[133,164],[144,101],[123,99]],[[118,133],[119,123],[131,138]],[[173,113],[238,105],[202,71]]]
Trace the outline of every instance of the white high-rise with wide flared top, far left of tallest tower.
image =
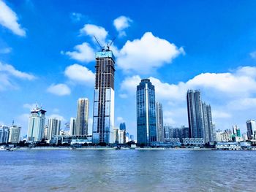
[[39,107],[31,110],[27,136],[29,142],[39,142],[44,138],[45,112]]

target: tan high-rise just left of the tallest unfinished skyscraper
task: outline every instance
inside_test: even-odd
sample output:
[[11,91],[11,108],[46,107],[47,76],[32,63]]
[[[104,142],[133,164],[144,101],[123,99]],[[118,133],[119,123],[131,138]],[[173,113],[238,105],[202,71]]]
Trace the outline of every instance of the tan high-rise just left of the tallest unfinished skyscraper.
[[88,134],[89,99],[78,99],[78,115],[76,118],[75,135]]

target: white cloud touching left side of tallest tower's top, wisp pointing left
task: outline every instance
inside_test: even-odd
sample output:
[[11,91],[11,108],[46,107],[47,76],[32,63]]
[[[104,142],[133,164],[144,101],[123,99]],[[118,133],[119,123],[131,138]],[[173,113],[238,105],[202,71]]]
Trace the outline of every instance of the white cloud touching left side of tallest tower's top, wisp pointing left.
[[[67,51],[65,54],[69,55],[70,58],[82,62],[94,61],[94,49],[91,48],[89,43],[83,42],[81,45],[76,45],[74,47],[75,51]],[[64,52],[61,51],[61,54]]]

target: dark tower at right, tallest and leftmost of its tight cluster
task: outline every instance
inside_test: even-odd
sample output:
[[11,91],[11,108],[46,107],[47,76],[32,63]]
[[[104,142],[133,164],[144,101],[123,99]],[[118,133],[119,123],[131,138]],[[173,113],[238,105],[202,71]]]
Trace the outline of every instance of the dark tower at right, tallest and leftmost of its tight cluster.
[[189,137],[205,138],[200,91],[187,91],[187,112],[189,119]]

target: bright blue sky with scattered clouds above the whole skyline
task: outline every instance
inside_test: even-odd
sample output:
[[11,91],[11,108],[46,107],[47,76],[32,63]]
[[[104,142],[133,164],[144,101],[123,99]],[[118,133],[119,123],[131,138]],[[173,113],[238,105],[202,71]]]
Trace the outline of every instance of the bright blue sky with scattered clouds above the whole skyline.
[[[0,123],[26,134],[30,108],[69,121],[94,94],[92,38],[113,37],[115,124],[136,133],[135,88],[150,77],[164,123],[187,126],[200,89],[217,128],[256,118],[256,1],[0,0]],[[64,126],[64,123],[62,123]],[[91,123],[89,130],[91,130]]]

